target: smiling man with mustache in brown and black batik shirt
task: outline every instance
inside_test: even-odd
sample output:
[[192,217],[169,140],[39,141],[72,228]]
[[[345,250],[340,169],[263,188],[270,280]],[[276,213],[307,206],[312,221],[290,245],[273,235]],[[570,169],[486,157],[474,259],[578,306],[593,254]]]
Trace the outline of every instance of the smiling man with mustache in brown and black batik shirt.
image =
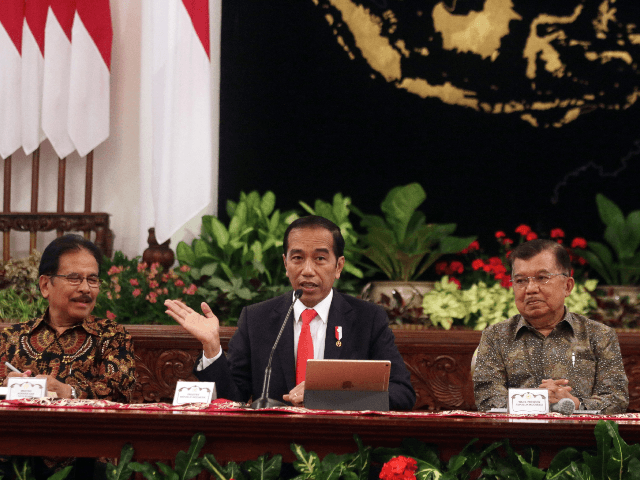
[[[131,336],[91,315],[102,255],[89,240],[65,235],[45,249],[39,268],[45,314],[0,332],[0,378],[47,377],[58,398],[129,402],[135,384]],[[9,372],[11,363],[22,374]]]

